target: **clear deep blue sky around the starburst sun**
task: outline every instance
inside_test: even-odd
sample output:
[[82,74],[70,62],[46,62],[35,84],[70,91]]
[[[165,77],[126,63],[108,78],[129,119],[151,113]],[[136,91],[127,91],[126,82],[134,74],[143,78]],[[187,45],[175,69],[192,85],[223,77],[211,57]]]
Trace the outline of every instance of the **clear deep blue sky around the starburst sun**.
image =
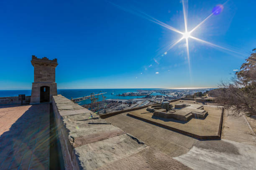
[[31,55],[58,59],[59,89],[217,87],[256,47],[254,2],[184,4],[188,31],[224,4],[192,35],[228,50],[189,38],[189,62],[185,39],[167,51],[182,35],[149,16],[184,32],[180,0],[0,1],[0,90],[31,89]]

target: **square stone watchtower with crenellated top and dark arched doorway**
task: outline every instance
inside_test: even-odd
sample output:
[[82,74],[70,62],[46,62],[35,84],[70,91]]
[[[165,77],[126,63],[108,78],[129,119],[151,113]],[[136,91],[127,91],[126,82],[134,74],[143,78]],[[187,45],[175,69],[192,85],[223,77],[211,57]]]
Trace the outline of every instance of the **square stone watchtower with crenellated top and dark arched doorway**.
[[32,55],[31,60],[34,66],[34,82],[30,104],[51,102],[52,96],[57,95],[57,84],[55,82],[55,68],[58,65],[57,59],[37,58]]

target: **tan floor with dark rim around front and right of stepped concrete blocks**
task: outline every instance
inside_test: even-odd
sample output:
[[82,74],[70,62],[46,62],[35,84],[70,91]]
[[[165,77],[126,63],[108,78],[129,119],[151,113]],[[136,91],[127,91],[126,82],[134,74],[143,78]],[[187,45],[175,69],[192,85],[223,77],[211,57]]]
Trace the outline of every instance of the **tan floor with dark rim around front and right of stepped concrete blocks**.
[[127,115],[199,139],[220,138],[222,109],[207,106],[204,109],[208,112],[205,119],[192,118],[189,121],[156,117],[146,108],[128,112]]

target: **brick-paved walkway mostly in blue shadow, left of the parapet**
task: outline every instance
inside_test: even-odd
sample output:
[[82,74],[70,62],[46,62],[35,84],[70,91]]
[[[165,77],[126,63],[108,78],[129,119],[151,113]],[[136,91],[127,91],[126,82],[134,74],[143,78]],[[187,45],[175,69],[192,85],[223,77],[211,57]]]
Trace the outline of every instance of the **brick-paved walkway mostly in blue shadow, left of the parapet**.
[[0,106],[0,170],[49,169],[50,105]]

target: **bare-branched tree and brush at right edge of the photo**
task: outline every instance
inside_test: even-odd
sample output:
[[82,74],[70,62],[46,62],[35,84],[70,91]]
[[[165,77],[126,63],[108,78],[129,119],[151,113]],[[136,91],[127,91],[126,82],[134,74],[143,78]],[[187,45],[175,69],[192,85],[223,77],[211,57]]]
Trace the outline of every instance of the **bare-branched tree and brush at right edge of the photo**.
[[215,101],[225,109],[234,110],[235,115],[241,112],[256,115],[256,48],[241,65],[236,76],[230,82],[220,82],[219,89],[209,92]]

